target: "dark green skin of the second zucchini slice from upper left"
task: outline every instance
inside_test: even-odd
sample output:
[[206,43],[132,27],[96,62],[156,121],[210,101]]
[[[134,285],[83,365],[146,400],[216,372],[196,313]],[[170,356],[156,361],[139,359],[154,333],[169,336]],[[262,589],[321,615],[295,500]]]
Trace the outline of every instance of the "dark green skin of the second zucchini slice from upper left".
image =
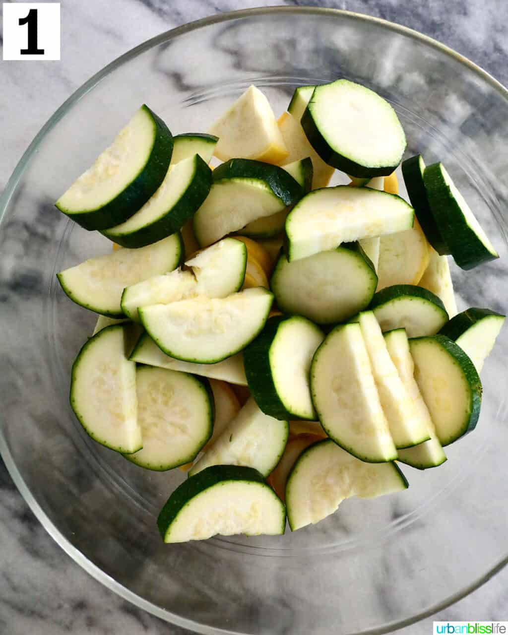
[[196,154],[194,161],[196,168],[194,179],[180,200],[163,217],[128,234],[113,234],[108,231],[104,231],[102,234],[122,247],[138,249],[180,231],[187,220],[192,218],[196,210],[204,203],[204,199],[210,192],[210,166],[201,159],[199,154]]

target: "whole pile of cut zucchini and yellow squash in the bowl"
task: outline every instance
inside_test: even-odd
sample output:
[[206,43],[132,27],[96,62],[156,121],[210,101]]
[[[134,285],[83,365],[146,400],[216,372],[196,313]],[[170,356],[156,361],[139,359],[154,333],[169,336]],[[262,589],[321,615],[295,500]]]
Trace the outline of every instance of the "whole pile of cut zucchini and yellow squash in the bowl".
[[498,255],[443,164],[403,161],[398,195],[405,150],[364,86],[301,86],[278,121],[251,86],[208,134],[143,105],[58,199],[114,243],[58,274],[99,316],[70,403],[133,464],[188,471],[165,542],[317,523],[476,426],[505,318],[457,312],[448,256]]

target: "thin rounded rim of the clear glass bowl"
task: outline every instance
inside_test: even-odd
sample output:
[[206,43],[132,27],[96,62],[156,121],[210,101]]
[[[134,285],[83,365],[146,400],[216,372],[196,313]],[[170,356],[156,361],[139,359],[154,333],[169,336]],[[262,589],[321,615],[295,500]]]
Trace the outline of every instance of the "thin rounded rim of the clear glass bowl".
[[[474,64],[469,58],[461,55],[457,51],[453,50],[449,46],[442,44],[438,40],[426,36],[415,29],[411,29],[410,27],[405,27],[396,22],[390,22],[389,20],[384,20],[382,18],[373,17],[371,15],[366,15],[364,13],[357,13],[356,11],[346,11],[342,9],[333,9],[333,8],[324,8],[324,7],[311,7],[311,6],[269,6],[269,7],[258,7],[252,9],[243,9],[237,11],[227,11],[225,13],[218,13],[217,15],[211,15],[208,17],[200,18],[199,20],[193,20],[192,22],[187,22],[178,27],[174,27],[173,29],[168,29],[158,36],[151,37],[146,40],[142,44],[138,44],[131,50],[123,53],[116,59],[114,59],[109,64],[105,65],[101,70],[95,73],[90,77],[86,82],[81,84],[79,88],[77,88],[69,98],[67,98],[60,107],[51,115],[51,117],[44,123],[42,128],[39,130],[37,135],[34,137],[30,145],[27,147],[25,152],[23,152],[22,157],[17,163],[17,166],[13,170],[11,177],[8,179],[3,192],[0,194],[0,229],[1,222],[3,220],[5,211],[10,203],[11,197],[13,196],[18,182],[23,175],[23,172],[27,168],[30,163],[30,159],[37,151],[37,147],[46,136],[48,132],[50,132],[62,119],[62,117],[67,113],[74,104],[79,102],[81,98],[88,93],[88,91],[92,90],[104,77],[106,77],[112,70],[117,69],[121,65],[130,61],[133,58],[138,57],[150,48],[157,46],[163,42],[166,42],[174,37],[189,33],[194,30],[201,29],[201,27],[206,27],[212,24],[229,22],[231,20],[238,20],[241,18],[248,18],[253,16],[262,16],[274,13],[281,14],[303,14],[303,15],[330,15],[333,17],[345,17],[350,18],[352,20],[358,20],[359,22],[367,22],[380,25],[385,29],[394,31],[399,34],[403,34],[404,36],[411,37],[421,43],[434,48],[435,50],[448,55],[449,57],[455,59],[459,64],[464,65],[469,70],[474,72],[480,79],[485,81],[487,84],[490,84],[491,88],[496,90],[499,95],[504,98],[508,105],[508,89],[500,83],[497,79],[491,76],[486,70],[482,69],[478,64]],[[76,547],[74,547],[69,540],[57,529],[57,527],[53,524],[53,522],[48,518],[46,512],[42,509],[41,505],[37,502],[36,498],[32,495],[29,488],[25,484],[20,471],[15,464],[13,457],[11,456],[10,450],[8,448],[6,439],[4,438],[3,432],[0,428],[0,457],[3,459],[4,464],[6,465],[6,469],[9,472],[13,482],[18,488],[18,491],[24,498],[27,505],[29,505],[31,511],[36,516],[37,520],[43,525],[44,529],[48,532],[48,534],[55,540],[59,547],[61,547],[67,555],[70,556],[86,573],[89,573],[91,577],[95,578],[100,584],[103,584],[110,591],[113,591],[121,598],[126,599],[130,603],[138,608],[142,608],[143,610],[155,615],[158,618],[163,619],[165,622],[169,622],[170,624],[175,624],[182,628],[189,629],[194,632],[202,633],[203,635],[242,635],[238,631],[231,631],[229,629],[220,629],[217,627],[208,626],[206,624],[200,624],[199,622],[194,622],[189,618],[181,617],[175,613],[172,613],[166,609],[163,609],[159,606],[156,606],[149,602],[148,600],[138,596],[135,592],[130,591],[122,584],[114,580],[114,578],[110,577],[105,573],[102,569],[100,569],[97,565],[94,565],[86,556],[79,551]],[[452,605],[458,600],[464,598],[469,595],[472,591],[475,591],[481,585],[485,584],[491,577],[496,575],[496,573],[500,572],[505,565],[508,564],[508,554],[502,559],[497,565],[491,568],[488,572],[486,572],[483,576],[479,577],[477,580],[472,582],[472,584],[467,585],[460,591],[448,596],[443,599],[441,602],[437,603],[431,608],[428,608],[425,611],[417,613],[410,618],[405,618],[403,620],[394,620],[389,624],[385,624],[382,627],[371,627],[369,629],[364,629],[363,631],[359,631],[361,635],[378,635],[382,633],[387,633],[394,631],[396,629],[403,628],[405,626],[409,626],[411,624],[415,624],[416,622],[426,618],[431,617],[434,613],[437,613],[446,607]],[[359,635],[358,634],[358,635]],[[244,634],[243,634],[244,635]]]

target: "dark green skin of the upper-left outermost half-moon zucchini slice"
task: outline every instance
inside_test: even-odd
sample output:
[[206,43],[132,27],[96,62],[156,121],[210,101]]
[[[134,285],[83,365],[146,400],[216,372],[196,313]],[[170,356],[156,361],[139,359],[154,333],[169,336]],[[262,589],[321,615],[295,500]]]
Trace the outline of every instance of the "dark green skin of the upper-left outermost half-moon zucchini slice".
[[109,229],[125,222],[155,194],[166,176],[173,154],[173,136],[164,121],[147,105],[144,104],[142,108],[152,117],[155,135],[150,155],[137,177],[112,201],[97,210],[73,214],[56,203],[60,211],[84,229]]

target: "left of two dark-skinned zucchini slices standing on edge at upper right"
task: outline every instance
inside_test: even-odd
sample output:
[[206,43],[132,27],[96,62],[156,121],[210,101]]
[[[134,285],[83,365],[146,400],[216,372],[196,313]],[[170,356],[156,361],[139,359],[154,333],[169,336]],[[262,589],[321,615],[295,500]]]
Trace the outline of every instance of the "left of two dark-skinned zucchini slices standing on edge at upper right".
[[425,163],[421,154],[406,159],[402,162],[402,175],[404,184],[408,190],[411,205],[415,208],[415,215],[422,225],[427,241],[441,255],[450,253],[447,251],[445,241],[439,231],[436,219],[431,211],[429,197],[424,183]]

